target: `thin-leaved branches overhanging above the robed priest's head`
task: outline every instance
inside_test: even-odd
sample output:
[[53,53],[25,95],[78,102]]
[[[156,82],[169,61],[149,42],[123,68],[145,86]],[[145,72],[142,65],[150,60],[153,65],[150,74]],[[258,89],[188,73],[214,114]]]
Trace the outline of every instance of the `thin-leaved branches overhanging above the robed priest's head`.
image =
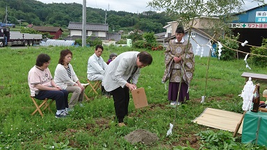
[[219,22],[214,22],[212,26],[213,31],[226,29],[227,24],[232,21],[231,13],[240,12],[243,6],[243,0],[154,0],[148,3],[149,6],[158,10],[165,10],[170,15],[175,15],[177,20],[182,21],[186,26],[193,25],[193,18],[200,16],[220,18]]

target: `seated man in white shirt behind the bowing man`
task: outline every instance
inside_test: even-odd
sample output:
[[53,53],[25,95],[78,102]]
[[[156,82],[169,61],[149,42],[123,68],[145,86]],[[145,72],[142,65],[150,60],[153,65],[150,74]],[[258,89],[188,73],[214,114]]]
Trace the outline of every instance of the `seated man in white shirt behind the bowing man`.
[[[88,59],[87,78],[90,81],[102,81],[104,78],[104,70],[106,69],[106,67],[108,67],[108,65],[101,57],[103,51],[104,48],[102,47],[102,45],[97,45],[95,47],[95,53]],[[105,91],[102,87],[102,93],[103,92]]]

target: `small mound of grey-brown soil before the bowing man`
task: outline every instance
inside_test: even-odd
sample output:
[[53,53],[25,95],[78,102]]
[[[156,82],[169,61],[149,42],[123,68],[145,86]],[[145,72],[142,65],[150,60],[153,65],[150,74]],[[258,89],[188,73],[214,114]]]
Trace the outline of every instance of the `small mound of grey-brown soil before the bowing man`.
[[153,142],[159,140],[158,136],[156,136],[155,133],[150,133],[149,131],[146,131],[144,129],[132,131],[131,133],[125,135],[124,139],[131,144],[141,142],[146,145],[151,145]]

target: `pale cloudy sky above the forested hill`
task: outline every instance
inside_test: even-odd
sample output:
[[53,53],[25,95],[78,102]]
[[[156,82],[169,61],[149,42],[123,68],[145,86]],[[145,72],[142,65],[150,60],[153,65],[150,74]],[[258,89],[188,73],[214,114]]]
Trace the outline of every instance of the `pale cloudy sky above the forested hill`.
[[[83,0],[36,0],[42,3],[83,3]],[[86,6],[90,8],[100,8],[102,10],[115,10],[140,13],[144,11],[154,10],[147,3],[152,0],[86,0]],[[253,0],[243,0],[245,2],[244,10],[248,10],[259,6]],[[262,3],[260,4],[262,5]]]

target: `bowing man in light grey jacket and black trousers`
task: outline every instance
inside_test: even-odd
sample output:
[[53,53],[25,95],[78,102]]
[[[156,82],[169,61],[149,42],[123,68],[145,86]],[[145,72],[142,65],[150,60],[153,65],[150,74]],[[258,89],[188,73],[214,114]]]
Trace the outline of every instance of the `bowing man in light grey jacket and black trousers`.
[[128,115],[129,91],[137,88],[140,69],[150,65],[152,60],[146,51],[127,51],[108,64],[103,85],[112,93],[118,126],[126,126],[123,119]]

